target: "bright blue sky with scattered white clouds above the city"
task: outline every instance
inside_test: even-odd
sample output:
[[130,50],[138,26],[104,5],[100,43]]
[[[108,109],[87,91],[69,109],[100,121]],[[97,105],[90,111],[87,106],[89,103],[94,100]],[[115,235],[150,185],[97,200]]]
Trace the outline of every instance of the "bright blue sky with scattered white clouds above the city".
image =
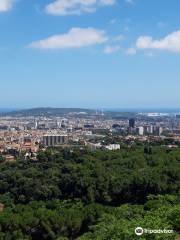
[[180,107],[179,0],[0,0],[0,108]]

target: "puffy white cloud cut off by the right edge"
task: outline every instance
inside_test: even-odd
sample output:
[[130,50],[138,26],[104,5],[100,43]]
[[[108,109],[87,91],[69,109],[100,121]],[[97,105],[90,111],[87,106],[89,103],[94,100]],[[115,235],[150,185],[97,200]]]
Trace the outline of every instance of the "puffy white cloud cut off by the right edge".
[[158,49],[180,53],[180,30],[159,40],[154,40],[150,36],[141,36],[137,39],[136,47],[138,49]]

